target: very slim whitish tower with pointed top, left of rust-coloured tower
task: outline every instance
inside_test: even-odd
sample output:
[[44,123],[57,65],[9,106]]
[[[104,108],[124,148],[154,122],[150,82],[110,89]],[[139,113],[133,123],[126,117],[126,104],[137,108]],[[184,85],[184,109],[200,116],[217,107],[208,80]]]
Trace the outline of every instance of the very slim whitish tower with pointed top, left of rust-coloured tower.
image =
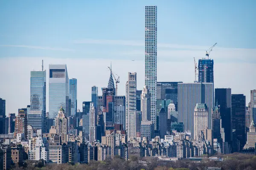
[[97,126],[97,114],[95,113],[94,103],[90,103],[90,142],[94,142],[96,140],[96,126]]

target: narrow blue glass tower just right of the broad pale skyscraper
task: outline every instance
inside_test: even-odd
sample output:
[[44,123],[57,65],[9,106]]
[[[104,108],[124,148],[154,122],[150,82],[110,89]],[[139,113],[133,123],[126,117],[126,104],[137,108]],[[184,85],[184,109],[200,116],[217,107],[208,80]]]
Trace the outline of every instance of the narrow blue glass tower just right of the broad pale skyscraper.
[[70,111],[71,116],[76,116],[77,110],[77,79],[69,79],[69,95],[71,99]]

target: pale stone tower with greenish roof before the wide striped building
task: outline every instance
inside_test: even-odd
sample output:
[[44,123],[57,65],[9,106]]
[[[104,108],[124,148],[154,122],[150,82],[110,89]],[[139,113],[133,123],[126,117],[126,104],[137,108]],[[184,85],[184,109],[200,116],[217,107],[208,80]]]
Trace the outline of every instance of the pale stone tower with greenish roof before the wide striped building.
[[[208,127],[208,111],[207,105],[198,103],[195,106],[194,111],[194,139],[199,141],[199,138],[203,135],[206,136]],[[203,136],[202,136],[203,137]]]

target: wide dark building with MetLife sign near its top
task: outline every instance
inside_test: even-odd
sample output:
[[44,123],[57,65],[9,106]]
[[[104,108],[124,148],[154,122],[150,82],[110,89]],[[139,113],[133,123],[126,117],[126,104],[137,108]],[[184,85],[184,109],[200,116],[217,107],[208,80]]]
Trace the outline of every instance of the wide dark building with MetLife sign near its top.
[[182,82],[157,82],[157,100],[172,100],[177,108],[178,83]]

